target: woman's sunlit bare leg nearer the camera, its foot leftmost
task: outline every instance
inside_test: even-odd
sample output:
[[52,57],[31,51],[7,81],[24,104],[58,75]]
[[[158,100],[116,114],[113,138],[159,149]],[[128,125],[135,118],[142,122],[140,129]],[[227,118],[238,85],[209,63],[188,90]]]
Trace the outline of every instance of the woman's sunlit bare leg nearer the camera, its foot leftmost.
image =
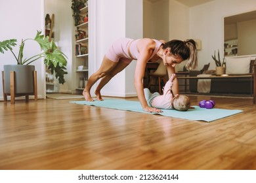
[[83,90],[83,96],[85,97],[85,101],[93,101],[93,98],[91,97],[91,87],[97,80],[100,78],[106,76],[112,69],[114,69],[117,66],[118,62],[114,62],[110,59],[108,59],[106,56],[104,56],[103,61],[100,65],[100,69],[93,73],[93,75],[90,76],[86,86],[85,90]]

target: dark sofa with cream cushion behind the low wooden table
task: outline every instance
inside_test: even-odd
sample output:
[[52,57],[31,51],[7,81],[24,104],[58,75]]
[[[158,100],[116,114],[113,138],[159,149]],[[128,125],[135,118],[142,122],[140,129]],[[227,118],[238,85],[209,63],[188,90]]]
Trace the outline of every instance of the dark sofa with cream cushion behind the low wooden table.
[[[253,64],[256,62],[255,58],[251,57],[237,57],[225,58],[226,59],[226,75],[252,75]],[[200,76],[202,74],[214,75],[215,72],[205,71],[190,71],[189,76]],[[203,79],[202,79],[203,80]],[[251,78],[223,78],[211,79],[209,93],[253,93],[253,79]],[[198,92],[198,79],[189,80],[190,92]]]

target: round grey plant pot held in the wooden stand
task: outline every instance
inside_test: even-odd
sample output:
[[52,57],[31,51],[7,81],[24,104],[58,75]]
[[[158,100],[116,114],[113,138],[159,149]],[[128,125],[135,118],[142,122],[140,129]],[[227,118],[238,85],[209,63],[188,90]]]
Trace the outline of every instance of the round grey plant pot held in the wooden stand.
[[11,93],[11,71],[14,71],[14,93],[33,93],[34,65],[4,65],[5,93]]

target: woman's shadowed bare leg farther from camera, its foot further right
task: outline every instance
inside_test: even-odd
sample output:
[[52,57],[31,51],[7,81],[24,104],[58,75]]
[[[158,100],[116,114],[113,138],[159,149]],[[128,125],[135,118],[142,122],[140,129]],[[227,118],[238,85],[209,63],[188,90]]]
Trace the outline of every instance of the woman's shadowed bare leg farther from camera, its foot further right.
[[114,67],[114,69],[112,69],[112,71],[110,71],[106,76],[104,76],[101,80],[100,83],[98,84],[96,90],[95,90],[95,95],[97,97],[97,99],[99,101],[102,101],[102,97],[100,94],[100,90],[111,80],[111,78],[113,78],[117,73],[123,71],[123,69],[125,69],[125,67],[127,67],[127,65],[129,65],[129,63],[125,63],[123,61],[119,61],[116,65],[116,67]]

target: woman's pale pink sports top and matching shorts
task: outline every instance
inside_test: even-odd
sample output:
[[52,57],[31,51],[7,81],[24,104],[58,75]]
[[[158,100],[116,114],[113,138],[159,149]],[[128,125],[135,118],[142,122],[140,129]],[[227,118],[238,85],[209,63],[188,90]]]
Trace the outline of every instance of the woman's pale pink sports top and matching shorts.
[[[156,48],[154,49],[154,52],[152,53],[153,58],[158,50],[160,49],[161,44],[163,42],[160,42],[156,39],[153,39],[156,42]],[[123,61],[124,63],[131,63],[133,59],[139,58],[139,52],[137,50],[137,43],[139,39],[133,40],[129,38],[121,38],[117,39],[117,41],[110,46],[108,49],[108,52],[106,52],[106,57],[114,62],[118,62],[119,60]],[[128,48],[130,48],[131,56],[128,52]]]

